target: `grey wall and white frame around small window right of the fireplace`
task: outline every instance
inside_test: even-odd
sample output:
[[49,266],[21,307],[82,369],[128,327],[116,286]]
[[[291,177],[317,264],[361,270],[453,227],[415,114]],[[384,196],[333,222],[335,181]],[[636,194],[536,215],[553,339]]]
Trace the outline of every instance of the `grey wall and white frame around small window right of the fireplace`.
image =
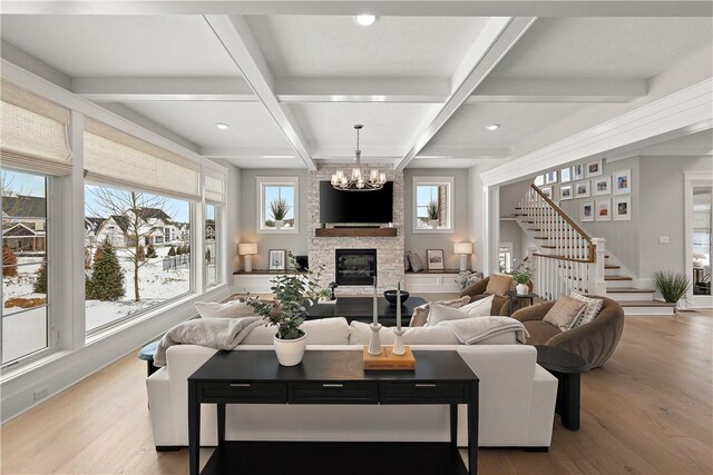
[[[413,232],[413,177],[453,177],[453,232],[452,234],[423,234]],[[453,243],[469,240],[469,212],[472,196],[468,187],[468,174],[463,169],[406,169],[403,170],[404,191],[404,245],[406,250],[421,256],[426,261],[427,249],[443,249],[446,258],[445,267],[457,269],[460,266],[460,256],[453,254]]]

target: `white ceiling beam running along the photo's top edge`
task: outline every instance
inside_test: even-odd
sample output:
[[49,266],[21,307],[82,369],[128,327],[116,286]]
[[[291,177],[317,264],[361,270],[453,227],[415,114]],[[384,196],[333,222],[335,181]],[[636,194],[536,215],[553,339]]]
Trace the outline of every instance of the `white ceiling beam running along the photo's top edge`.
[[420,17],[711,17],[709,0],[3,0],[3,14],[331,14]]

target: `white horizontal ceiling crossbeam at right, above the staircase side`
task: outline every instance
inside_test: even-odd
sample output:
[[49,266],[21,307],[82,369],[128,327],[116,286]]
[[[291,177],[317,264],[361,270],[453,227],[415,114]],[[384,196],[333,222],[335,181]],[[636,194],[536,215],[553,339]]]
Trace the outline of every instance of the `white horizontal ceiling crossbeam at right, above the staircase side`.
[[488,78],[467,102],[631,102],[647,93],[645,79]]

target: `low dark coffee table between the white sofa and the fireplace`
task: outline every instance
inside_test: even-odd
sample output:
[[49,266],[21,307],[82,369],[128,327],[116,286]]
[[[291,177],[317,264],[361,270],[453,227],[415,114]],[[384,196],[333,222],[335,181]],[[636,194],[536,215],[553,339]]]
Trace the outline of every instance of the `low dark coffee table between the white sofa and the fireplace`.
[[[383,298],[378,298],[379,323],[394,326],[397,307]],[[409,326],[413,308],[427,301],[421,297],[409,297],[401,305],[401,325]],[[344,317],[346,321],[371,321],[373,318],[373,297],[339,297],[336,304],[314,304],[307,307],[307,320],[315,318]]]

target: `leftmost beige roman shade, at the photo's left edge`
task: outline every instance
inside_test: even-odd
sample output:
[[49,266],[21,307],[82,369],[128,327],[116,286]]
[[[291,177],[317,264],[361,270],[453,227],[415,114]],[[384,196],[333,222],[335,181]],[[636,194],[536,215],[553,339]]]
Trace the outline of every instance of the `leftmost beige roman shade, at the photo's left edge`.
[[10,82],[1,82],[2,166],[45,175],[71,172],[69,110]]

